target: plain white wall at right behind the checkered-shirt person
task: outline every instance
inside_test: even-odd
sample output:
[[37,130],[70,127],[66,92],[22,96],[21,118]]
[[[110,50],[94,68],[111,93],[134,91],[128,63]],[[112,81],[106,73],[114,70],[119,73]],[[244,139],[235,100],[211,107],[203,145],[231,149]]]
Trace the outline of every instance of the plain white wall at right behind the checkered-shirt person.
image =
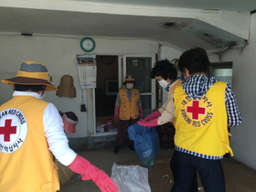
[[[222,61],[233,62],[232,89],[236,95],[242,123],[232,128],[231,147],[234,158],[256,169],[256,14],[251,15],[251,32],[249,45],[238,50],[229,50],[222,56]],[[219,61],[216,56],[211,61]]]

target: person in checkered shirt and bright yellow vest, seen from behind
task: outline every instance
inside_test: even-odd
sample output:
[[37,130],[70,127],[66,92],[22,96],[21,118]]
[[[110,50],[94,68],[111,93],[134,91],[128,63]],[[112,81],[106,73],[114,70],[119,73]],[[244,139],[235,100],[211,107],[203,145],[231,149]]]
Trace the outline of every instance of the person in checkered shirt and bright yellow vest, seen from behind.
[[195,171],[206,192],[225,192],[220,160],[233,152],[229,128],[241,123],[241,114],[229,83],[208,77],[204,48],[185,51],[178,60],[185,80],[174,91],[175,144],[178,179],[171,192],[188,191]]

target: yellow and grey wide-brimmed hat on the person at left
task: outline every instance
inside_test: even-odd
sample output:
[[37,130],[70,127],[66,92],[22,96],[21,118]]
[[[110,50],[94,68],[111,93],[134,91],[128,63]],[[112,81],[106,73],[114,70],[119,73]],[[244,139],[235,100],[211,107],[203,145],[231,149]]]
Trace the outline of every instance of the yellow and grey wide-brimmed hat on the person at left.
[[2,82],[11,86],[15,86],[15,84],[46,85],[46,91],[58,90],[49,82],[48,69],[46,66],[35,61],[25,61],[21,63],[15,78],[2,80]]

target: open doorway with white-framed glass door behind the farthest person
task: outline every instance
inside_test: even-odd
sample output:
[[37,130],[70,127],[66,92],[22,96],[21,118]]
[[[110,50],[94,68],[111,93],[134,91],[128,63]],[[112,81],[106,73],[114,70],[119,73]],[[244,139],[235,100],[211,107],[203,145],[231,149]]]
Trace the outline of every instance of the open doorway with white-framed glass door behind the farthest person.
[[[124,88],[123,81],[126,75],[133,75],[136,81],[134,88],[140,91],[144,116],[155,109],[155,79],[150,77],[155,62],[154,55],[97,55],[96,60],[96,133],[110,133],[107,123],[113,118],[116,96],[118,91]],[[113,129],[111,133],[116,133],[115,131]]]

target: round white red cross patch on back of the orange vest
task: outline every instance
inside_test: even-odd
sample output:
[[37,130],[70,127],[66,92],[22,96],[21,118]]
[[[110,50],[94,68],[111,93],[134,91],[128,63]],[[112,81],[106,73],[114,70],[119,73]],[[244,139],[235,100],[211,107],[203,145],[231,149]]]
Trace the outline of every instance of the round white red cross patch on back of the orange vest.
[[27,138],[27,120],[23,112],[6,109],[0,112],[0,152],[11,154],[24,144]]

